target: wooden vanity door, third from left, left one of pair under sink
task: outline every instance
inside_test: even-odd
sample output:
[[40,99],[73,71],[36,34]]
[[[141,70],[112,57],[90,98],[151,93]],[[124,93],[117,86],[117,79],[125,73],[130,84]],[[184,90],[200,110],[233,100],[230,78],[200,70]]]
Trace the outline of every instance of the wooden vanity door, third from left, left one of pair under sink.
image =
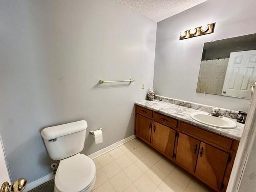
[[200,141],[186,134],[179,133],[176,161],[194,172]]

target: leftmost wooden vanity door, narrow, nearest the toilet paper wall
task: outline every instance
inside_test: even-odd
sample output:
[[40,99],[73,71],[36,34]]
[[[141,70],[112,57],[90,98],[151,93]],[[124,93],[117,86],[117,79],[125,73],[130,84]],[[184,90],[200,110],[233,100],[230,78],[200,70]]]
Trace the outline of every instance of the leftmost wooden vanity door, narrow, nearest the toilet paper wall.
[[137,114],[136,132],[137,136],[146,142],[150,142],[152,120],[143,115]]

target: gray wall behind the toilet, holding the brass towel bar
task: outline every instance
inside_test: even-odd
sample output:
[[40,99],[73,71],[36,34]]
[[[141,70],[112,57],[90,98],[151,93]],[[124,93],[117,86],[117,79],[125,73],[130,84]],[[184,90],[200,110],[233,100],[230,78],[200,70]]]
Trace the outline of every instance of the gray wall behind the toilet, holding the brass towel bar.
[[[134,102],[153,84],[156,22],[115,0],[0,0],[0,26],[0,134],[12,180],[50,173],[44,127],[86,120],[84,154],[133,134]],[[88,132],[99,127],[95,145]]]

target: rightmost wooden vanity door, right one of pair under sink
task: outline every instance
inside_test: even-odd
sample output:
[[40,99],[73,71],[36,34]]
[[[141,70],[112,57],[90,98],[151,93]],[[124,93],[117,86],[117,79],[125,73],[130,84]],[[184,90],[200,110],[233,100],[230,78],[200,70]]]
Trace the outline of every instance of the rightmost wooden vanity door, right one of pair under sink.
[[220,189],[229,154],[201,142],[196,174],[207,184]]

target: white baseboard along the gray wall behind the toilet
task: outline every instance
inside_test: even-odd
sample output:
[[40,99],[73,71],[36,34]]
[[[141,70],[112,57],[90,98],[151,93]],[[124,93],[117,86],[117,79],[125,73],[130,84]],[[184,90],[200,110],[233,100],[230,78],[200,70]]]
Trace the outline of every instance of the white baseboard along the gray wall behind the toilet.
[[[116,143],[114,143],[114,144],[112,144],[112,145],[110,145],[110,146],[108,146],[108,147],[106,147],[106,148],[104,148],[102,150],[99,150],[99,151],[97,151],[97,152],[95,152],[93,154],[88,155],[88,157],[90,157],[91,159],[94,159],[94,158],[96,158],[98,156],[103,155],[104,153],[107,153],[107,152],[113,150],[114,148],[119,147],[120,145],[122,145],[122,144],[124,144],[124,143],[126,143],[126,142],[128,142],[128,141],[130,141],[130,140],[132,140],[134,138],[136,138],[135,135],[127,137],[127,138],[125,138],[123,140],[120,140],[120,141],[118,141],[118,142],[116,142]],[[30,190],[32,190],[34,188],[37,188],[38,186],[40,186],[40,185],[42,185],[42,184],[44,184],[44,183],[54,179],[54,176],[55,175],[53,175],[53,174],[48,174],[48,175],[46,175],[46,176],[44,176],[44,177],[42,177],[42,178],[40,178],[38,180],[35,180],[35,181],[31,182],[31,183],[28,183],[26,188],[24,189],[24,192],[29,192]]]

